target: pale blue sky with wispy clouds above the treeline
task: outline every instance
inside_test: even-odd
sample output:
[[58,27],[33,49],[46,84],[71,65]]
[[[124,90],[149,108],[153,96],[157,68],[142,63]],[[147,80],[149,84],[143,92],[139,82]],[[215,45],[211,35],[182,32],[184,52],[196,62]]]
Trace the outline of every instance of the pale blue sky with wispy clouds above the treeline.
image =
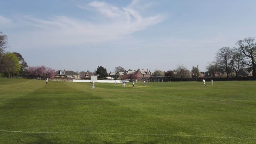
[[108,72],[205,71],[222,47],[256,36],[255,0],[1,0],[6,51],[28,66]]

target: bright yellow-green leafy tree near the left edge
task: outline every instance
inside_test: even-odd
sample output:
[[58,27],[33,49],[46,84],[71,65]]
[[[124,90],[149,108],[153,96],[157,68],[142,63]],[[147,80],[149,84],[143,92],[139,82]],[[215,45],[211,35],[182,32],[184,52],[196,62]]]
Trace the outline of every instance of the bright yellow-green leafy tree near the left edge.
[[0,60],[1,71],[7,74],[17,74],[20,71],[19,59],[15,54],[6,52],[2,55]]

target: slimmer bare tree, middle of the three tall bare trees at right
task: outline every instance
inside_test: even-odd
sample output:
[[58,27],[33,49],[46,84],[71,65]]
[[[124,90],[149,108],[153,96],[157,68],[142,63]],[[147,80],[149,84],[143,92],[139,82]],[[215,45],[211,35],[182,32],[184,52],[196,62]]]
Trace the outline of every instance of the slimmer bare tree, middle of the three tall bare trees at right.
[[244,67],[244,60],[245,57],[243,55],[243,53],[238,50],[238,49],[234,49],[233,53],[232,53],[232,69],[234,70],[234,72],[236,73],[236,78],[238,79],[238,75],[237,72],[239,69]]

